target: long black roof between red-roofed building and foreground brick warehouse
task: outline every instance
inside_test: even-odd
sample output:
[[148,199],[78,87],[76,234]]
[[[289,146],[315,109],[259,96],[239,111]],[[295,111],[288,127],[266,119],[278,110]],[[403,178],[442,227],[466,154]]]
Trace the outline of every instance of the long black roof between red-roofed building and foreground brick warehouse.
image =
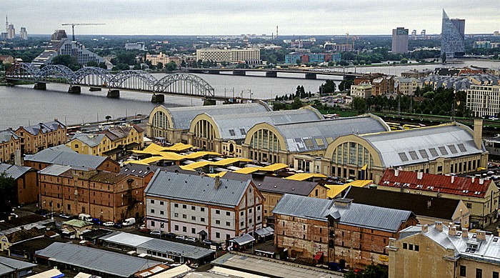
[[353,199],[353,202],[356,204],[409,210],[417,216],[421,215],[446,220],[453,219],[453,214],[461,202],[456,199],[436,198],[419,194],[361,187],[349,188],[344,197]]

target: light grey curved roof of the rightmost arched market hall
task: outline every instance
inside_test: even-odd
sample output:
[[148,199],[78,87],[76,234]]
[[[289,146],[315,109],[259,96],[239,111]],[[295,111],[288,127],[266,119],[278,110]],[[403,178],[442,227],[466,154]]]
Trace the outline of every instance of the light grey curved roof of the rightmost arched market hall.
[[396,167],[429,162],[437,157],[464,157],[486,152],[484,147],[476,147],[472,132],[469,127],[454,123],[361,137],[379,151],[383,167]]

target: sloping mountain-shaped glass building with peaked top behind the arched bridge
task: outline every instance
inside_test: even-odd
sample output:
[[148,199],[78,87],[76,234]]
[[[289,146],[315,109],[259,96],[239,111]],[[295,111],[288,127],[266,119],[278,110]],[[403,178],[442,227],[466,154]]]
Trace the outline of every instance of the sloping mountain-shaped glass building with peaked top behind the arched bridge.
[[70,55],[76,57],[79,64],[86,66],[89,61],[96,63],[104,62],[104,59],[85,48],[78,41],[71,41],[66,36],[66,31],[56,30],[51,36],[51,41],[44,52],[37,56],[31,64],[36,66],[52,64],[52,59],[58,55]]

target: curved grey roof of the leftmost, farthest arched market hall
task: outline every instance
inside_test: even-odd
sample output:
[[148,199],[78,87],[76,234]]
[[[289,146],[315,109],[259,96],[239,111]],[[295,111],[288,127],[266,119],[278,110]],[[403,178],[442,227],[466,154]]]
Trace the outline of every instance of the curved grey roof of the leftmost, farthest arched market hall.
[[251,103],[251,104],[225,104],[225,105],[209,105],[209,106],[184,106],[184,107],[174,107],[167,108],[164,107],[167,111],[169,111],[174,129],[189,129],[191,125],[191,120],[201,111],[205,111],[207,114],[211,116],[221,115],[221,114],[250,114],[254,112],[264,112],[271,111],[269,106],[265,104],[259,103]]

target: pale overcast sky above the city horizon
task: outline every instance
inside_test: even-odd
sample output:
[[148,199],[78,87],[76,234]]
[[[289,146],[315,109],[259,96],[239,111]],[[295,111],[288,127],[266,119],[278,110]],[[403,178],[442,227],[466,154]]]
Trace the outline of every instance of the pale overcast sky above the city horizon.
[[340,35],[441,33],[442,9],[450,18],[466,19],[466,34],[500,29],[499,0],[15,0],[2,1],[19,34],[51,34],[66,23],[76,34],[103,35]]

